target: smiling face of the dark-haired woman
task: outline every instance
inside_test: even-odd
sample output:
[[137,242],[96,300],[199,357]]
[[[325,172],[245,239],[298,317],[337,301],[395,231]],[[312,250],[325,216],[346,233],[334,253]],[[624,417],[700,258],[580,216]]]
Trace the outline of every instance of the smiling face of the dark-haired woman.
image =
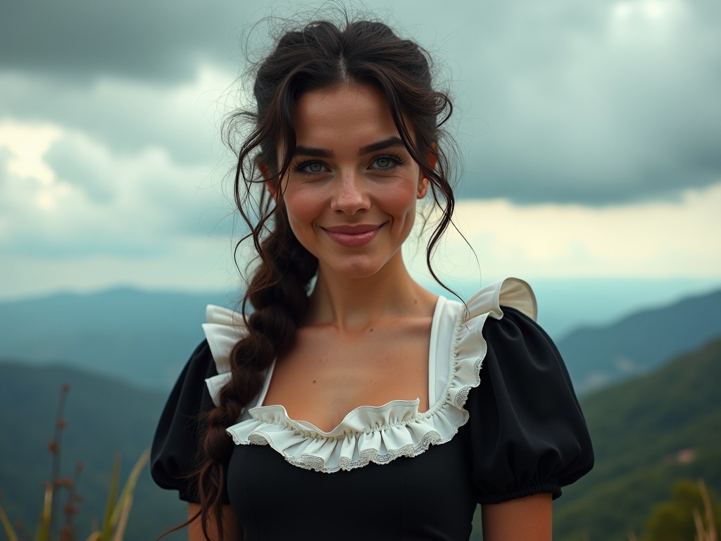
[[302,94],[283,201],[323,276],[366,278],[400,263],[428,180],[402,144],[386,99],[366,84]]

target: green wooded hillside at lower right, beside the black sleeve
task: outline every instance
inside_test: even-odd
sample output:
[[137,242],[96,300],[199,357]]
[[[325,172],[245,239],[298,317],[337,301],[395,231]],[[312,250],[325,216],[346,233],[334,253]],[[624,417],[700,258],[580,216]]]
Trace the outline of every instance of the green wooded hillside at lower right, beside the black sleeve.
[[721,493],[720,381],[721,338],[581,400],[596,467],[554,503],[554,539],[640,535],[678,478]]

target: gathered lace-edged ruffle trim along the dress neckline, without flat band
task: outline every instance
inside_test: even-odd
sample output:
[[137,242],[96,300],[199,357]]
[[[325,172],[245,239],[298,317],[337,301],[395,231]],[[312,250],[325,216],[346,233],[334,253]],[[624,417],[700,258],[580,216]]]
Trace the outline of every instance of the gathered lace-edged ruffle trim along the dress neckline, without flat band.
[[[446,302],[445,309],[457,312],[450,340],[450,376],[441,399],[424,413],[418,412],[418,400],[360,406],[332,431],[324,432],[312,423],[289,418],[282,405],[269,405],[250,408],[247,411],[250,418],[227,431],[235,444],[270,445],[293,465],[327,473],[353,470],[370,462],[386,464],[398,457],[415,457],[431,444],[446,443],[468,422],[469,413],[464,405],[471,389],[480,383],[479,372],[487,352],[483,325],[488,317],[503,317],[501,304],[536,318],[534,294],[526,282],[516,278],[482,289],[469,299],[467,310],[462,304]],[[237,327],[234,331],[242,333]],[[439,334],[439,340],[442,339]],[[218,362],[212,343],[211,351],[217,366],[222,366],[223,360]],[[219,382],[213,382],[213,387]],[[211,389],[210,381],[208,388]]]

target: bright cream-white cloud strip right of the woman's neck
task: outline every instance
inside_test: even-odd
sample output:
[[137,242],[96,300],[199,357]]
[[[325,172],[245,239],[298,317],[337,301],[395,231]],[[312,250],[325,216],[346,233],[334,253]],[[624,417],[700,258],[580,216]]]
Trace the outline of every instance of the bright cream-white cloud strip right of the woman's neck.
[[[517,275],[717,278],[719,208],[721,183],[686,190],[678,201],[604,208],[459,201],[455,221],[478,256],[484,281]],[[421,255],[415,251],[413,268],[425,274]],[[441,243],[436,260],[454,278],[479,276],[470,248],[455,232]]]

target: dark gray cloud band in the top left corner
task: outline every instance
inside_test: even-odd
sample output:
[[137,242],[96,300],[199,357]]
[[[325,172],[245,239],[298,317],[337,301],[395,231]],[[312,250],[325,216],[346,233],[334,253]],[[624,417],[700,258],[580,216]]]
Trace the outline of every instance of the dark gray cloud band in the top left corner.
[[4,7],[0,66],[71,79],[115,74],[177,82],[199,56],[237,54],[245,2],[29,0]]

